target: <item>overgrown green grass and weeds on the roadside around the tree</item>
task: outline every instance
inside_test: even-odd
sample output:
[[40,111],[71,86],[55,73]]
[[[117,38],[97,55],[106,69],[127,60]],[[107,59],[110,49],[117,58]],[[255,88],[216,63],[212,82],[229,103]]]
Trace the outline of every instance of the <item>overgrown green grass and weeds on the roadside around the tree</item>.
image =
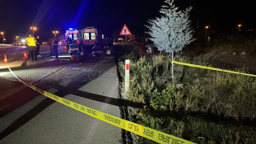
[[[127,98],[145,105],[135,109],[134,118],[140,124],[197,143],[255,143],[255,78],[175,64],[178,86],[171,82],[171,64],[166,56],[138,59],[130,53],[118,62],[123,80],[124,59],[130,59]],[[211,53],[177,55],[176,60],[203,66],[223,64]],[[120,87],[124,92],[124,81]],[[153,143],[139,139],[143,139],[140,143]]]

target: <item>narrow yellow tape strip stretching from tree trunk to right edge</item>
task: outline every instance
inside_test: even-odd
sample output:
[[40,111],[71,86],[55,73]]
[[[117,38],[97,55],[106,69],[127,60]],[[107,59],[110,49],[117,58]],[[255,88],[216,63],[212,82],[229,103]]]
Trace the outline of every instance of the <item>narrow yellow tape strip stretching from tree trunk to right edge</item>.
[[190,64],[190,63],[177,62],[175,60],[172,60],[171,62],[176,63],[176,64],[181,64],[181,65],[184,65],[184,66],[211,69],[211,70],[214,70],[214,71],[228,72],[228,73],[234,73],[234,74],[238,74],[238,75],[256,77],[256,75],[251,75],[251,74],[247,74],[247,73],[234,72],[234,71],[229,71],[229,70],[225,70],[225,69],[219,69],[219,68],[213,68],[213,67],[207,67],[207,66],[200,66],[200,65],[196,65],[196,64]]

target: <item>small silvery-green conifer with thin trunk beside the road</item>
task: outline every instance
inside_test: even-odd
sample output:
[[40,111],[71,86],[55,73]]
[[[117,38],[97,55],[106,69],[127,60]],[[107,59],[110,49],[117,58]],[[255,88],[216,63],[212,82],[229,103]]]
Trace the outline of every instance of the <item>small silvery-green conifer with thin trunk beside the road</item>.
[[[158,50],[171,53],[174,60],[174,52],[182,50],[185,46],[196,40],[193,38],[193,28],[189,20],[192,6],[185,10],[178,10],[173,4],[174,0],[165,0],[167,5],[160,9],[161,18],[149,20],[149,32],[147,32]],[[172,82],[174,83],[174,64],[172,63]]]

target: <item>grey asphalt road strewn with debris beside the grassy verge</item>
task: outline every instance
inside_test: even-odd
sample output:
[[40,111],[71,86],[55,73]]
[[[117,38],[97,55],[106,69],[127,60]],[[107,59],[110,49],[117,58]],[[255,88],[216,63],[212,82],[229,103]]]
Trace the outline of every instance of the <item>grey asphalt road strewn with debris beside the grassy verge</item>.
[[[69,61],[66,50],[59,50],[59,60],[53,60],[45,46],[40,51],[43,57],[30,61],[23,59],[21,49],[9,49],[7,55],[15,75],[50,93],[121,118],[120,108],[126,102],[118,94],[113,56]],[[125,143],[120,128],[30,89],[12,76],[0,58],[0,143]]]

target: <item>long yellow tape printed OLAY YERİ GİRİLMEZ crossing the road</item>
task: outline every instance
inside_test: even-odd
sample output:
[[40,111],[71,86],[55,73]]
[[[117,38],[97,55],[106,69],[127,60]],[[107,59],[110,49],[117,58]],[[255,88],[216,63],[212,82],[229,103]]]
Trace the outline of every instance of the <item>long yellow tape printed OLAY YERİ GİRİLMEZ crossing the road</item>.
[[89,107],[85,107],[84,105],[72,102],[70,100],[61,98],[51,93],[48,93],[47,91],[39,89],[38,87],[25,82],[24,80],[22,80],[22,78],[19,78],[18,76],[16,76],[10,68],[9,70],[16,78],[18,78],[19,81],[21,81],[23,84],[27,85],[28,87],[32,88],[33,90],[41,93],[42,95],[45,95],[48,98],[55,100],[56,102],[67,105],[68,107],[76,109],[77,111],[88,114],[89,116],[92,116],[104,122],[110,123],[111,125],[120,127],[121,129],[125,129],[127,131],[133,132],[134,134],[143,136],[144,138],[147,138],[162,144],[195,144],[191,141],[187,141],[173,135],[169,135],[169,134],[166,134],[157,130],[153,130],[151,128],[148,128],[130,121],[123,120],[122,118],[115,117],[110,114],[103,113]]

